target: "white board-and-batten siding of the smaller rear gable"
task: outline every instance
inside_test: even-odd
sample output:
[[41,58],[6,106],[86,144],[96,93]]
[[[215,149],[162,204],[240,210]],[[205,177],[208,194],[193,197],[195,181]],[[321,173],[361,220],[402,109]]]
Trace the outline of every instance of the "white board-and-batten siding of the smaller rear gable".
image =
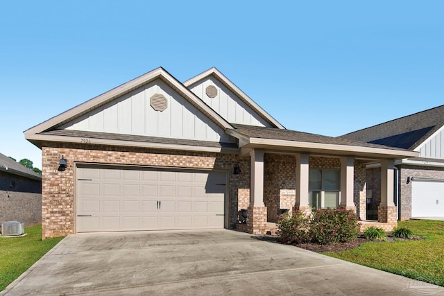
[[[210,98],[205,93],[209,85],[214,85],[217,89],[217,95],[214,98]],[[229,123],[271,127],[257,112],[213,77],[201,80],[191,85],[189,89]]]

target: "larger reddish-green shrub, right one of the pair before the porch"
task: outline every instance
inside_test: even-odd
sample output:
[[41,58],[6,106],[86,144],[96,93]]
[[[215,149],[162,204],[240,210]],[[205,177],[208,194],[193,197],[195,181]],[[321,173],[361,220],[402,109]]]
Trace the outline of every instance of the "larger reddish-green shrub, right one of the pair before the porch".
[[357,238],[358,218],[347,209],[318,209],[313,212],[310,232],[314,243],[345,243]]

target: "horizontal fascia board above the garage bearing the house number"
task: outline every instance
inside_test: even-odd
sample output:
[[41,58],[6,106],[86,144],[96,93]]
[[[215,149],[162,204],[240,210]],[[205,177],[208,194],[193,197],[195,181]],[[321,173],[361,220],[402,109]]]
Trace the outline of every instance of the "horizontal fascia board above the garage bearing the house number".
[[[56,136],[53,134],[35,134],[32,137],[26,138],[29,141],[51,141],[51,142],[64,142],[64,143],[81,143],[80,137],[69,136]],[[152,143],[152,142],[140,142],[140,141],[123,141],[112,139],[95,139],[88,137],[90,143],[84,143],[85,149],[88,145],[105,145],[105,146],[125,146],[125,147],[139,147],[139,148],[158,148],[168,150],[187,150],[198,152],[214,152],[214,153],[239,153],[239,148],[223,148],[223,147],[208,147],[208,146],[193,146],[193,145],[181,145],[171,143]]]

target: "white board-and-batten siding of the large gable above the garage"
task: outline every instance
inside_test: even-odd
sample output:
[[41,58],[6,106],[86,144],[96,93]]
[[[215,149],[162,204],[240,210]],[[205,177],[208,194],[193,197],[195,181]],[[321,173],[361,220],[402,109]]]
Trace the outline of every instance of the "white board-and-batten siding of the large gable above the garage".
[[[154,94],[167,98],[167,108],[155,111],[150,105]],[[67,130],[108,132],[139,136],[234,142],[222,128],[191,105],[162,80],[121,96],[62,126]]]

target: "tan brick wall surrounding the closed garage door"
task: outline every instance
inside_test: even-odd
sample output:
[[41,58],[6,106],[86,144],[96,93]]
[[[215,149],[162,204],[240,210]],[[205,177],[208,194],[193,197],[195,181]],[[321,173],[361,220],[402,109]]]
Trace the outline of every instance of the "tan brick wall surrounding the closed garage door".
[[[59,172],[60,157],[67,159],[66,171]],[[250,188],[250,159],[223,153],[196,153],[80,144],[44,143],[42,147],[42,237],[74,233],[75,162],[126,164],[182,168],[221,169],[228,172],[230,189],[230,228],[237,223],[238,194],[245,199]],[[233,175],[234,165],[242,173]],[[249,191],[248,191],[249,195]]]

